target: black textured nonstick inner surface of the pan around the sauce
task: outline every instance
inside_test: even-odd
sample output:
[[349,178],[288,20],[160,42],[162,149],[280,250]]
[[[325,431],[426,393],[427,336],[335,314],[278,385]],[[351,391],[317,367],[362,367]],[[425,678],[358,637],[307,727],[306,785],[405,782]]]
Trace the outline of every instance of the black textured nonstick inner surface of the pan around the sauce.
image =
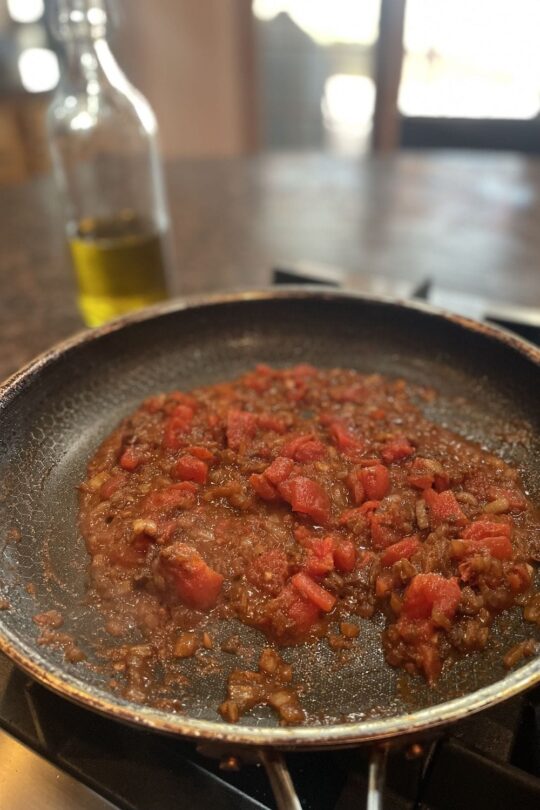
[[[326,293],[269,293],[129,323],[53,356],[0,403],[0,596],[11,606],[0,614],[0,630],[40,665],[108,693],[92,666],[105,633],[85,605],[87,558],[76,529],[76,487],[99,442],[147,395],[231,378],[259,362],[351,367],[433,385],[441,398],[431,415],[518,464],[540,503],[540,366],[532,350],[428,310]],[[510,441],[503,438],[509,425]],[[52,607],[66,617],[87,663],[67,664],[60,652],[36,647],[32,616]],[[237,629],[256,659],[262,637]],[[342,668],[326,644],[289,649],[285,657],[307,685],[310,713],[324,710],[327,722],[340,722],[397,716],[493,683],[505,675],[501,651],[530,635],[519,616],[507,618],[487,653],[455,664],[435,689],[384,663],[373,622],[362,623],[358,654]],[[183,696],[188,715],[219,719],[215,707],[236,665],[221,656],[219,675],[194,678]],[[242,722],[275,725],[266,710]]]

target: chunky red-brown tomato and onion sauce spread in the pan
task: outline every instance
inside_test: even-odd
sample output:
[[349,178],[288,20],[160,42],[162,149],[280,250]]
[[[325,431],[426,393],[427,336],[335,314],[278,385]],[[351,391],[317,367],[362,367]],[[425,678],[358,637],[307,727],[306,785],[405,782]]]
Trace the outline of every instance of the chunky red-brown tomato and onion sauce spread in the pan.
[[[268,646],[257,671],[224,683],[222,716],[267,703],[298,723],[276,648],[351,648],[357,617],[382,611],[387,662],[434,683],[447,658],[485,647],[495,615],[523,604],[538,621],[538,513],[515,469],[423,415],[419,399],[434,396],[379,375],[258,366],[124,419],[80,502],[124,694],[150,700],[158,663],[178,679],[179,661],[235,617]],[[125,640],[134,626],[144,643]]]

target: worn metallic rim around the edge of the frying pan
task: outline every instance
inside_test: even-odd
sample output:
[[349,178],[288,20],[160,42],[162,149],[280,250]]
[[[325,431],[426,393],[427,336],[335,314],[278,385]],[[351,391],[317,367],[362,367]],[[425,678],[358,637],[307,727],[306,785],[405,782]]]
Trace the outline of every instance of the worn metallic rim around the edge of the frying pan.
[[[130,325],[144,323],[160,316],[188,309],[283,298],[303,298],[320,301],[359,300],[420,311],[457,324],[468,332],[482,334],[510,346],[518,354],[524,355],[533,363],[540,365],[540,348],[517,337],[512,332],[455,315],[424,302],[405,301],[390,296],[363,295],[346,290],[321,289],[320,287],[260,288],[173,299],[140,312],[123,316],[96,329],[78,332],[42,352],[8,377],[4,383],[0,384],[0,411],[8,407],[9,403],[16,398],[26,385],[31,384],[41,369],[54,364],[56,360],[67,353],[77,350],[79,346],[102,336],[117,332]],[[1,617],[0,650],[14,661],[17,666],[44,686],[100,714],[167,734],[177,734],[198,740],[215,741],[218,739],[220,743],[240,746],[256,745],[278,748],[342,747],[420,734],[460,720],[473,712],[496,705],[540,683],[540,656],[537,656],[531,662],[489,686],[435,706],[397,717],[337,723],[329,726],[290,728],[267,726],[258,728],[243,724],[231,725],[223,721],[189,718],[147,706],[139,706],[117,697],[113,699],[105,690],[90,687],[84,684],[82,679],[74,677],[68,672],[56,675],[50,671],[46,662],[43,662],[41,656],[36,655],[25,640],[3,626]]]

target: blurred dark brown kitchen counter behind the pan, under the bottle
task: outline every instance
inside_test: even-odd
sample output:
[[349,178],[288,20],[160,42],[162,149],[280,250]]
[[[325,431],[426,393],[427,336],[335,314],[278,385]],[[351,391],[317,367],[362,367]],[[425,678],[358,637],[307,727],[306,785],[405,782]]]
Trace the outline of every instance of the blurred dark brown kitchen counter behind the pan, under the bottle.
[[[299,259],[540,306],[540,160],[276,154],[165,167],[176,294]],[[83,327],[50,177],[2,189],[0,379]]]

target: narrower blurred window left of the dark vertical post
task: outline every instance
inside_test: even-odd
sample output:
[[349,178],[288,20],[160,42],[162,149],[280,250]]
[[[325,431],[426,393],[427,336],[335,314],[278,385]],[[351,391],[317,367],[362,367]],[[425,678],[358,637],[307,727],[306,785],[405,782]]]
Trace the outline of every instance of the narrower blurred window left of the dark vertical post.
[[380,0],[253,0],[263,148],[369,146]]

